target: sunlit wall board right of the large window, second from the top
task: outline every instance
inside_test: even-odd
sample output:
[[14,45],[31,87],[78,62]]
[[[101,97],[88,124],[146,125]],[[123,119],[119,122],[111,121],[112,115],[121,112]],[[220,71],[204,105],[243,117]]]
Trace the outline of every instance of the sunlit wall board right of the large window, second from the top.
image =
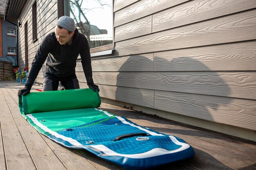
[[140,0],[114,13],[114,27],[173,7],[188,0]]

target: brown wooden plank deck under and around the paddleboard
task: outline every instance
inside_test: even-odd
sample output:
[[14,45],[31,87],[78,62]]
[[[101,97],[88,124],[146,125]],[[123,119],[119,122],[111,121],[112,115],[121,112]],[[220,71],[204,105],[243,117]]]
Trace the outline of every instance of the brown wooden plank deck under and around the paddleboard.
[[[0,82],[0,170],[123,170],[84,150],[68,149],[38,133],[20,115],[17,82]],[[40,86],[33,86],[33,91]],[[180,124],[110,104],[101,108],[136,124],[184,139],[195,157],[157,170],[256,170],[256,142]]]

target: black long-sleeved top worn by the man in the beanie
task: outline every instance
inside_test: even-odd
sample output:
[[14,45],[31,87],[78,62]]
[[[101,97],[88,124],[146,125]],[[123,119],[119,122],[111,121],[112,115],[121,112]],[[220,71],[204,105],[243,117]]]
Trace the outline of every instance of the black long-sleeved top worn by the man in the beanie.
[[79,54],[87,84],[93,84],[88,40],[76,29],[70,45],[61,45],[54,32],[45,37],[31,64],[25,86],[31,88],[45,60],[45,78],[58,81],[76,78],[75,67]]

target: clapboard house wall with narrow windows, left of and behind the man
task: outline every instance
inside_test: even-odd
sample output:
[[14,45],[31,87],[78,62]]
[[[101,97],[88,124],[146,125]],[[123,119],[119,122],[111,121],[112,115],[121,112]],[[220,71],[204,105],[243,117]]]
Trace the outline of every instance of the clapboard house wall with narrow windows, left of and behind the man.
[[[25,68],[25,23],[27,22],[28,27],[28,63],[29,68],[34,60],[36,51],[38,50],[41,42],[46,35],[54,31],[55,22],[57,21],[57,1],[56,0],[37,0],[36,11],[37,11],[37,40],[32,40],[32,5],[34,0],[27,0],[24,9],[22,10],[19,22],[22,25],[19,27],[19,66]],[[43,82],[43,70],[44,66],[38,74],[36,82]]]

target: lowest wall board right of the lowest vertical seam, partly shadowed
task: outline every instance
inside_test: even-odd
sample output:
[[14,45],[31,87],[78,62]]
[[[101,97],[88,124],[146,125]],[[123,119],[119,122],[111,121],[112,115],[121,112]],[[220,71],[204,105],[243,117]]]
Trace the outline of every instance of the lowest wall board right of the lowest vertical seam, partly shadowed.
[[154,108],[256,130],[256,101],[155,91]]

